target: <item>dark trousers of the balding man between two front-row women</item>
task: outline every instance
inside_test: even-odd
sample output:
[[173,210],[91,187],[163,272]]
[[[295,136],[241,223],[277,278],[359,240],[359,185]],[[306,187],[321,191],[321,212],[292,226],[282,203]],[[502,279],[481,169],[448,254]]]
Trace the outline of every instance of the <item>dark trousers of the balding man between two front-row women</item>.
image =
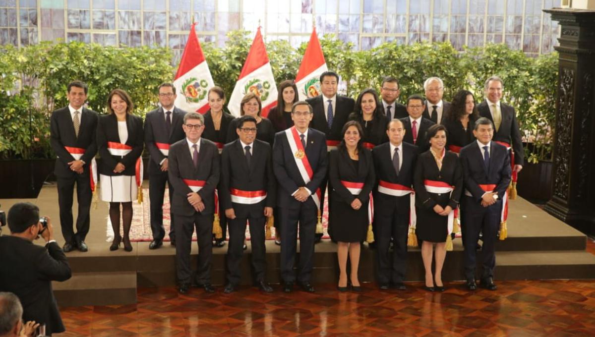
[[[402,283],[407,272],[407,234],[409,215],[375,213],[374,241],[378,262],[378,283]],[[394,240],[393,263],[390,264],[390,238]]]

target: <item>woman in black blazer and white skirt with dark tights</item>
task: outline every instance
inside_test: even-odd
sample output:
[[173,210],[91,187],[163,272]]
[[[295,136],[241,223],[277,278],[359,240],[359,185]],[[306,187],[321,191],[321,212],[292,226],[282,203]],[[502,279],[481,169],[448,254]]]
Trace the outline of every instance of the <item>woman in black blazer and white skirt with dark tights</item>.
[[[133,103],[124,90],[112,90],[107,105],[109,115],[100,116],[97,124],[97,148],[101,156],[101,199],[109,202],[109,219],[114,229],[114,241],[109,250],[117,250],[123,241],[124,250],[132,251],[129,237],[132,201],[142,188],[142,181],[137,182],[142,172],[139,175],[136,167],[137,160],[142,160],[143,120],[131,114]],[[124,238],[120,235],[120,204]]]

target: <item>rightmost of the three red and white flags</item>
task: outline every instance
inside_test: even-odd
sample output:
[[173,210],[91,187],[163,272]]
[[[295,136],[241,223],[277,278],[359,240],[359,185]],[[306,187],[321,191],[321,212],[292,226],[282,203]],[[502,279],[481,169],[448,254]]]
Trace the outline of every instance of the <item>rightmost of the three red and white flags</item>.
[[327,62],[324,61],[320,41],[318,41],[316,28],[314,27],[306,52],[303,53],[302,64],[299,66],[296,75],[296,86],[300,100],[321,94],[320,75],[327,70]]

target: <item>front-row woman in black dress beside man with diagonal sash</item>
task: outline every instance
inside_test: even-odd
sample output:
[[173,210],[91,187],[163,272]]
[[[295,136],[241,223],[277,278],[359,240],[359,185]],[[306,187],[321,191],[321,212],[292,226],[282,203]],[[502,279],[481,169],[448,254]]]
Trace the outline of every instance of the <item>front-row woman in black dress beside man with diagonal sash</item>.
[[343,140],[329,155],[328,228],[331,238],[338,244],[339,291],[347,290],[348,253],[353,291],[361,291],[358,279],[360,242],[366,240],[369,194],[376,179],[372,152],[362,146],[363,132],[358,122],[346,122]]

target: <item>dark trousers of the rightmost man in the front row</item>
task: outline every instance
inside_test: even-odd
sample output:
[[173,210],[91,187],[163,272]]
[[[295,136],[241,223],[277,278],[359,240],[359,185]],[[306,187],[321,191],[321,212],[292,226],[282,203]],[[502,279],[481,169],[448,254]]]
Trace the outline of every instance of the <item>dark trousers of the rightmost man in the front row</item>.
[[498,229],[500,228],[500,215],[502,212],[502,200],[495,204],[483,207],[479,201],[472,197],[463,196],[461,200],[461,231],[465,244],[465,278],[475,279],[475,266],[477,250],[477,240],[480,232],[483,233],[483,245],[481,246],[481,262],[483,271],[481,279],[487,279],[494,276],[494,266],[496,266],[496,240],[498,238]]

